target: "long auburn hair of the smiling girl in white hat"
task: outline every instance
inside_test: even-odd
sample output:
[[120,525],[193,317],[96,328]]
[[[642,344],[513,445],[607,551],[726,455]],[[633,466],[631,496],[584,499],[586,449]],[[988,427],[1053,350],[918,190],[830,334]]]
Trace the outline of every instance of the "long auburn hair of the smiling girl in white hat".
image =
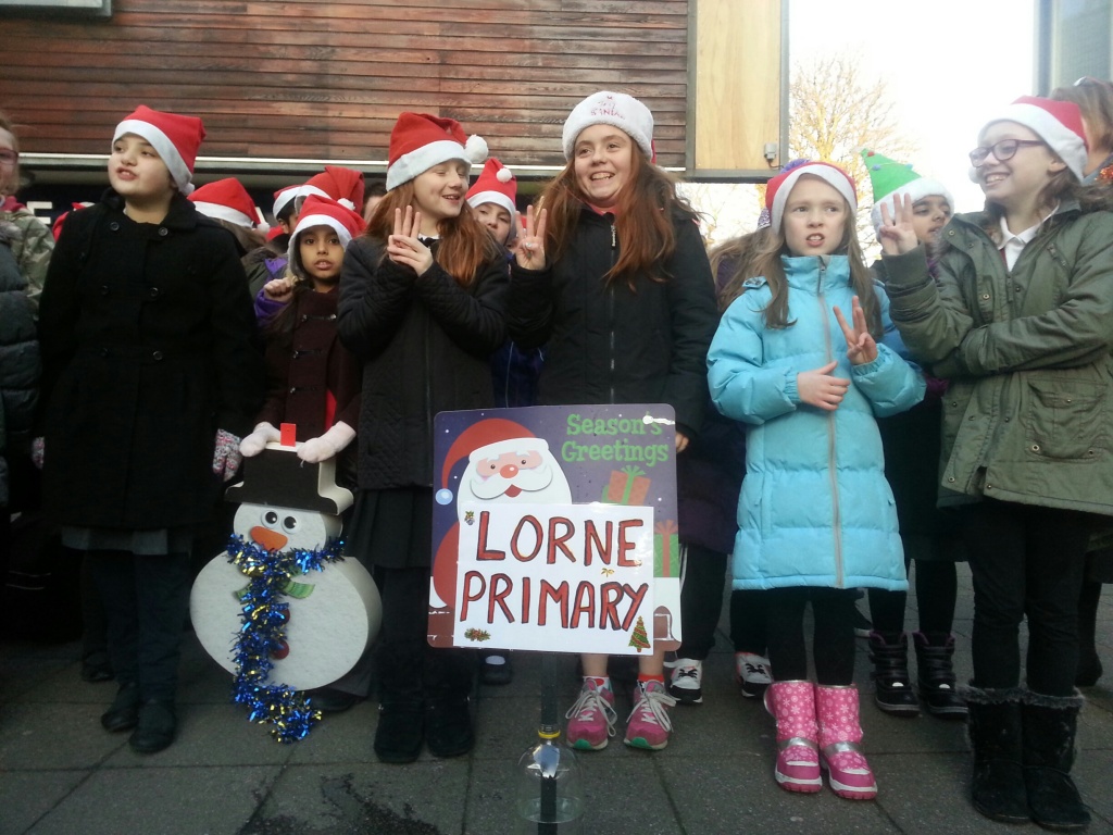
[[[649,161],[641,148],[630,143],[630,181],[619,191],[614,229],[619,259],[604,275],[608,283],[624,277],[631,289],[634,279],[648,275],[663,281],[664,262],[677,248],[673,217],[677,213],[696,219],[688,202],[677,194],[677,180]],[[545,256],[556,261],[568,248],[580,222],[587,195],[575,177],[575,160],[545,186],[539,205],[544,207]]]

